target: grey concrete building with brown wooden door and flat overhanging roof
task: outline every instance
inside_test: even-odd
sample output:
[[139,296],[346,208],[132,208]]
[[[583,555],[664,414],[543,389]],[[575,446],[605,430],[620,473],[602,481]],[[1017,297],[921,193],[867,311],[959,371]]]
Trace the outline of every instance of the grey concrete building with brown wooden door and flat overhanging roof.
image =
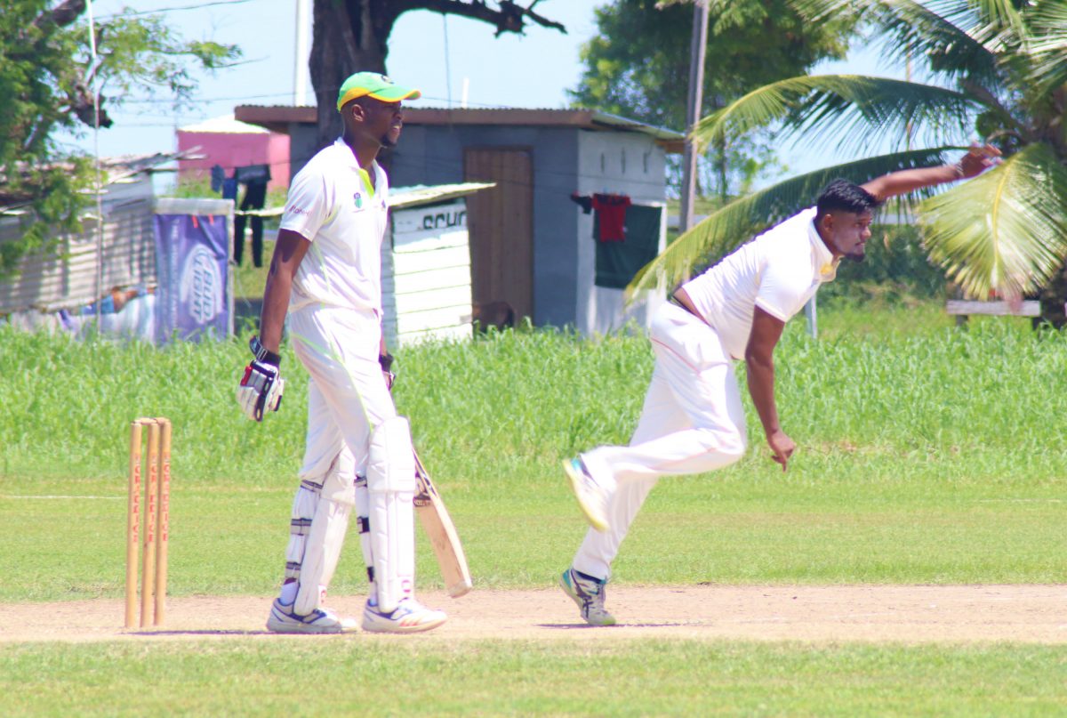
[[[317,147],[315,109],[250,107],[238,120],[290,137],[291,168]],[[666,155],[683,136],[583,109],[410,109],[400,145],[383,156],[394,186],[493,182],[468,201],[474,302],[506,302],[536,325],[604,332],[647,325],[662,296],[623,309],[623,293],[594,284],[593,216],[573,193],[625,194],[664,207]],[[663,293],[658,293],[662,295]]]

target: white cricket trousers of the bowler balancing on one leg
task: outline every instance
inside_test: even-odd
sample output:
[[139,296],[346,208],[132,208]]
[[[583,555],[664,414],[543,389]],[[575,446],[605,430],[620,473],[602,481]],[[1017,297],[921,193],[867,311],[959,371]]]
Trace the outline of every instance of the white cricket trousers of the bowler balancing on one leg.
[[573,567],[607,579],[619,545],[659,477],[702,473],[745,454],[745,411],[733,360],[718,333],[697,316],[667,302],[649,331],[656,356],[644,407],[628,447],[599,447],[582,454],[602,485],[610,528],[586,533]]

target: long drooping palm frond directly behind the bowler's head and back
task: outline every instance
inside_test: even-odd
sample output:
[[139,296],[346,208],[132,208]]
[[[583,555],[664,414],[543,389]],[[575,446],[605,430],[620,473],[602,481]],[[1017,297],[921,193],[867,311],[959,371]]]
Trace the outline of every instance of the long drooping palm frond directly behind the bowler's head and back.
[[626,287],[627,301],[636,292],[651,290],[660,281],[673,286],[694,268],[712,264],[776,222],[810,207],[831,180],[843,177],[864,183],[896,170],[938,165],[944,161],[945,152],[958,149],[914,150],[837,165],[736,199],[680,236],[647,264]]

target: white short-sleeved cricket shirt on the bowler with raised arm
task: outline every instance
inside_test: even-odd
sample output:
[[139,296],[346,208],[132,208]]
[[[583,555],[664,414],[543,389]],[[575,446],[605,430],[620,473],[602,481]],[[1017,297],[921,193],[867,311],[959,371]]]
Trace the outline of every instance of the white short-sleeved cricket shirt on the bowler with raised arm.
[[832,281],[838,263],[815,231],[815,207],[776,224],[683,285],[734,359],[745,356],[759,307],[786,322]]

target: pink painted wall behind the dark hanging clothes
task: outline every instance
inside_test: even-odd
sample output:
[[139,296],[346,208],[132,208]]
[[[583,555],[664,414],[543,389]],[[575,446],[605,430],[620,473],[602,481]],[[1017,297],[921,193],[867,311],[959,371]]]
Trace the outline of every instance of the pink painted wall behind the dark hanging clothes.
[[178,152],[198,146],[205,159],[179,159],[178,177],[210,178],[211,167],[221,165],[226,176],[235,167],[270,165],[270,189],[289,186],[289,136],[278,132],[189,132],[178,130]]

